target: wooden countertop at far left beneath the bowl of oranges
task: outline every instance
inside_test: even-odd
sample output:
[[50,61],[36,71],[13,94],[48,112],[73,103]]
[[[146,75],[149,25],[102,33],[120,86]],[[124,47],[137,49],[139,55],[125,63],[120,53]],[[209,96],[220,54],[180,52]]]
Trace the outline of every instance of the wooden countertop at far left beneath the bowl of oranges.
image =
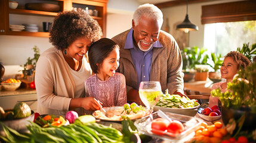
[[24,95],[24,94],[36,94],[36,89],[31,88],[18,88],[16,91],[0,91],[0,97],[11,95]]

